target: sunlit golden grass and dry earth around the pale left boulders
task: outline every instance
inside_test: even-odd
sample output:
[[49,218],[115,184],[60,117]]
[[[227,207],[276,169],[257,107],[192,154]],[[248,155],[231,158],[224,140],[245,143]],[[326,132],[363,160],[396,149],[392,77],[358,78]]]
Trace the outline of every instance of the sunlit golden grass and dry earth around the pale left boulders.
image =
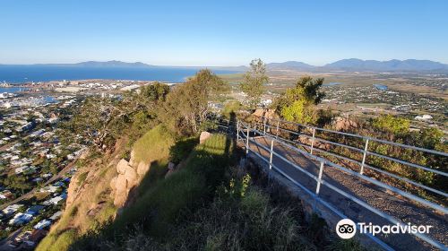
[[[154,177],[163,177],[167,170],[169,148],[174,142],[173,136],[158,125],[134,143],[135,158],[146,163],[152,161],[150,174],[142,181],[142,187],[151,183]],[[120,141],[112,154],[93,156],[83,161],[79,175],[73,178],[71,184],[75,186],[75,192],[70,194],[75,197],[73,204],[67,206],[61,220],[37,250],[66,250],[76,238],[114,219],[116,207],[109,196],[109,182],[116,176],[116,162],[125,153],[125,146],[126,143]],[[106,162],[108,160],[112,161]],[[140,190],[137,191],[139,194]]]

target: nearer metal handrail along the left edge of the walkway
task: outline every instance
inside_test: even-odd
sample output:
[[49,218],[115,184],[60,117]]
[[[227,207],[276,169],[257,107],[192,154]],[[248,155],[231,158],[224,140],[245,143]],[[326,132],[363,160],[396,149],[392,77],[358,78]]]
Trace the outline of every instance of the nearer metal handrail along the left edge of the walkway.
[[[241,125],[243,126],[243,130],[240,130]],[[265,128],[265,127],[264,127],[264,128]],[[326,165],[331,166],[331,167],[333,167],[333,168],[340,169],[341,171],[348,172],[350,175],[353,175],[353,176],[355,176],[355,177],[362,178],[362,179],[364,179],[364,180],[366,180],[366,181],[368,181],[368,182],[370,182],[370,183],[372,183],[372,184],[375,184],[376,186],[380,186],[380,187],[389,189],[389,190],[391,190],[392,192],[394,192],[394,193],[396,193],[396,194],[398,194],[398,195],[402,195],[402,196],[405,196],[405,197],[409,198],[411,201],[415,201],[415,202],[418,202],[418,203],[425,204],[426,206],[431,207],[431,208],[433,208],[433,209],[435,209],[435,210],[437,210],[437,211],[444,212],[445,214],[448,213],[448,210],[446,210],[443,206],[440,206],[440,205],[435,204],[435,203],[428,202],[428,201],[426,201],[426,200],[424,200],[424,199],[422,199],[422,198],[420,198],[420,197],[418,197],[418,196],[416,196],[416,195],[410,195],[409,193],[406,193],[406,192],[404,192],[404,191],[401,191],[400,189],[398,189],[398,188],[396,188],[396,187],[388,186],[388,185],[386,185],[386,184],[384,184],[384,183],[382,183],[382,182],[380,182],[380,181],[377,181],[377,180],[375,180],[375,179],[373,179],[373,178],[366,177],[366,176],[364,176],[364,175],[362,175],[362,174],[359,174],[358,172],[355,172],[355,171],[353,171],[353,170],[351,170],[351,169],[347,169],[347,168],[341,167],[341,166],[338,165],[338,164],[332,163],[332,161],[329,161],[329,160],[323,159],[323,158],[321,158],[321,157],[315,156],[315,155],[313,155],[313,154],[308,153],[307,151],[300,150],[300,149],[298,149],[297,147],[294,147],[294,146],[292,146],[292,145],[290,145],[290,144],[288,144],[288,143],[284,143],[284,142],[282,142],[281,140],[285,140],[285,139],[281,139],[281,140],[279,140],[279,139],[276,138],[276,136],[273,136],[272,134],[266,134],[266,133],[265,133],[265,129],[264,129],[264,132],[261,132],[261,131],[259,131],[259,130],[250,128],[250,126],[249,126],[249,125],[246,125],[244,122],[237,121],[237,139],[239,138],[239,134],[240,134],[242,131],[244,131],[244,129],[247,130],[247,133],[245,134],[246,139],[244,139],[244,140],[246,140],[246,153],[248,153],[249,151],[254,152],[255,155],[257,155],[258,157],[260,157],[262,160],[264,160],[264,161],[266,161],[266,162],[269,162],[269,164],[270,164],[270,169],[271,169],[271,167],[274,167],[275,169],[277,169],[277,167],[275,167],[275,165],[272,163],[272,154],[274,154],[275,156],[279,157],[281,160],[284,160],[284,161],[286,161],[287,163],[289,163],[290,165],[292,165],[294,168],[296,168],[296,169],[302,171],[302,172],[305,173],[307,176],[312,177],[312,178],[313,178],[314,180],[316,180],[316,182],[317,182],[317,188],[316,188],[316,192],[315,192],[315,194],[314,194],[314,199],[318,198],[318,195],[319,195],[319,187],[320,187],[320,185],[327,186],[327,187],[329,187],[330,189],[332,189],[333,191],[339,193],[340,195],[343,195],[343,196],[349,198],[350,200],[352,200],[353,202],[358,203],[359,205],[363,206],[364,208],[366,208],[366,209],[369,210],[370,212],[374,212],[375,214],[377,214],[377,215],[383,217],[383,218],[386,219],[387,221],[391,221],[392,223],[398,223],[398,224],[401,224],[401,225],[402,225],[401,221],[396,220],[396,219],[393,218],[391,215],[389,215],[389,214],[387,214],[387,213],[385,213],[385,212],[382,212],[382,211],[376,209],[375,207],[373,207],[373,206],[371,206],[371,205],[369,205],[369,204],[367,204],[367,203],[365,203],[365,202],[359,200],[357,197],[355,197],[355,196],[353,196],[353,195],[349,195],[348,193],[346,193],[346,192],[340,190],[339,188],[337,188],[336,186],[332,186],[332,185],[329,184],[327,181],[324,181],[323,178],[322,178],[322,174],[323,174],[323,165],[326,164]],[[255,134],[262,134],[262,135],[265,136],[265,137],[269,137],[269,138],[271,139],[271,149],[268,149],[266,146],[264,146],[264,145],[262,145],[262,144],[260,144],[260,143],[257,143],[257,142],[255,142],[254,140],[250,140],[250,134],[249,134],[250,131],[253,131]],[[241,138],[241,139],[243,140],[243,138]],[[249,147],[249,142],[254,143],[255,145],[257,145],[257,146],[263,148],[264,151],[271,151],[271,158],[270,158],[270,160],[266,160],[265,158],[263,158],[263,156],[262,156],[261,154],[259,154],[258,152],[253,151],[252,149],[250,149],[250,147]],[[321,168],[320,168],[320,170],[319,170],[319,177],[315,177],[313,174],[309,173],[309,172],[306,171],[305,169],[302,169],[302,168],[298,167],[297,164],[291,162],[290,160],[288,160],[288,159],[284,158],[283,156],[281,156],[279,153],[273,151],[273,148],[272,148],[273,142],[281,143],[282,145],[288,146],[289,148],[293,149],[294,151],[298,151],[298,152],[300,152],[300,153],[306,155],[307,157],[310,157],[311,159],[320,161],[320,162],[321,162]],[[321,151],[322,151],[322,150],[321,150]],[[368,166],[367,166],[367,167],[368,167]],[[368,168],[371,168],[371,167],[368,167]],[[280,169],[277,169],[277,170],[280,170]],[[280,170],[280,172],[281,172],[281,170]],[[286,175],[284,172],[281,172],[281,173],[282,173],[283,175]],[[292,178],[290,178],[290,177],[288,177],[288,178],[289,178],[291,181],[293,181]],[[294,181],[294,183],[295,183],[297,186],[299,185],[301,188],[305,189],[305,191],[306,191],[308,194],[310,194],[310,191],[307,190],[305,186],[300,185],[299,183],[297,183],[297,181]],[[429,188],[430,188],[430,187],[429,187]],[[431,188],[431,189],[432,189],[432,188]],[[322,199],[319,199],[318,201],[319,201],[320,203],[323,202]],[[327,205],[329,205],[329,203],[323,202],[323,205],[327,206]],[[327,206],[327,207],[328,207],[328,206]],[[338,210],[336,210],[335,208],[333,208],[332,206],[331,206],[331,207],[328,207],[328,208],[330,208],[330,209],[332,210],[332,212],[338,211]],[[339,213],[337,213],[337,214],[340,215],[341,213],[339,212]],[[342,215],[343,215],[343,214],[342,214]],[[347,218],[347,217],[346,217],[346,218]],[[418,237],[418,238],[422,238],[423,240],[425,240],[427,243],[433,245],[434,247],[438,247],[438,248],[442,248],[442,249],[445,249],[445,248],[446,248],[446,247],[444,246],[444,244],[442,244],[442,243],[436,241],[435,239],[430,238],[430,237],[428,237],[428,236],[426,236],[426,235],[424,235],[424,234],[419,234],[419,233],[413,233],[413,234],[414,234],[416,237]],[[372,236],[369,236],[369,238],[372,238]],[[373,239],[376,243],[378,243],[379,245],[381,245],[383,248],[385,248],[385,249],[392,249],[391,247],[389,247],[389,246],[387,246],[386,244],[384,244],[383,241],[379,240],[378,238],[373,237],[372,239]]]

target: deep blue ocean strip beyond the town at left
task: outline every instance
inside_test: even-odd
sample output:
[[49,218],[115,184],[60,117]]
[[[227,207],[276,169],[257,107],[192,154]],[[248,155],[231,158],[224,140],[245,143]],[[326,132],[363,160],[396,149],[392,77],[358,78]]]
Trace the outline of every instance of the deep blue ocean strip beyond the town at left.
[[[46,82],[84,79],[184,82],[201,68],[177,67],[87,67],[53,65],[0,65],[0,82]],[[233,71],[213,71],[235,74]]]

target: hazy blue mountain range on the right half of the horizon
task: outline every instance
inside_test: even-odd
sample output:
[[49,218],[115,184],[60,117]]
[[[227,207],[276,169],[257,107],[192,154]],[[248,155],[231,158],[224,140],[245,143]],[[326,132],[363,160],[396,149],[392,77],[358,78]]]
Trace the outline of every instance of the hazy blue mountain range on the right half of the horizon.
[[358,58],[342,59],[323,66],[307,65],[303,62],[288,61],[267,64],[271,70],[297,71],[345,71],[345,72],[411,72],[411,73],[448,73],[448,65],[430,60],[397,60],[389,61],[361,60]]

